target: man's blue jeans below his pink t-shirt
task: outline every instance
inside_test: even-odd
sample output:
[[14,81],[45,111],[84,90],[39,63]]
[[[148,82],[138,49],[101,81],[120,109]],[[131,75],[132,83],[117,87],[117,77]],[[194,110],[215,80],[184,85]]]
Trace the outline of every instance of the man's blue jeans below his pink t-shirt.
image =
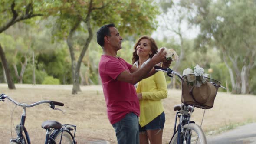
[[112,125],[118,144],[139,144],[138,116],[128,113],[125,118]]

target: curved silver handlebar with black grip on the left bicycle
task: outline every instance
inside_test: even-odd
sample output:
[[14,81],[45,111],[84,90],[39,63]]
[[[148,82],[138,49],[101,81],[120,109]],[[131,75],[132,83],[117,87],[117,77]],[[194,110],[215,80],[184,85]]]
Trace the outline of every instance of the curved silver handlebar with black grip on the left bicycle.
[[40,104],[43,104],[43,103],[49,103],[51,105],[51,108],[53,107],[53,109],[54,109],[54,105],[64,106],[64,104],[61,103],[61,102],[48,101],[48,100],[38,101],[38,102],[35,102],[33,104],[28,105],[28,104],[25,104],[25,103],[19,103],[19,102],[15,101],[14,99],[10,98],[8,95],[5,95],[5,94],[0,95],[0,101],[4,101],[5,98],[12,101],[15,105],[21,106],[23,108],[29,108],[29,107],[33,107],[33,106],[40,105]]

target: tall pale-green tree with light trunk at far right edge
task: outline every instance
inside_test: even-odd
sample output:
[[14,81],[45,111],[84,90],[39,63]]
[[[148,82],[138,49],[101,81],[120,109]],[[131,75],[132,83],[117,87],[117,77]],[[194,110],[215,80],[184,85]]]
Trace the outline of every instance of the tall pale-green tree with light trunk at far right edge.
[[200,26],[198,46],[220,49],[229,69],[232,93],[249,93],[250,69],[256,66],[255,0],[193,0],[187,7]]

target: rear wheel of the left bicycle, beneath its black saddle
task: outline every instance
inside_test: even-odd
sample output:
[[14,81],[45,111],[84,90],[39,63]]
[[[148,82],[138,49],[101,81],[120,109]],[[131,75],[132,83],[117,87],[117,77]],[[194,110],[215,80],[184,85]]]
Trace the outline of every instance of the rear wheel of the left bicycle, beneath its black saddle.
[[[61,138],[61,134],[62,134],[62,138]],[[56,144],[73,144],[73,135],[70,133],[69,130],[60,129],[54,134],[53,140],[55,141]]]

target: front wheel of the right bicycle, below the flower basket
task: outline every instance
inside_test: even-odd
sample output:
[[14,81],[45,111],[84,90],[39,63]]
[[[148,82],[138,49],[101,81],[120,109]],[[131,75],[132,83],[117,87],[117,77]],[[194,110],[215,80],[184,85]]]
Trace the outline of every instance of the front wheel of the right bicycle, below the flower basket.
[[[185,124],[183,128],[184,133],[187,129],[187,134],[185,138],[185,134],[180,134],[181,144],[206,144],[206,137],[203,130],[197,124]],[[169,144],[177,144],[177,140],[178,132],[176,131]],[[182,143],[182,141],[184,142]]]

